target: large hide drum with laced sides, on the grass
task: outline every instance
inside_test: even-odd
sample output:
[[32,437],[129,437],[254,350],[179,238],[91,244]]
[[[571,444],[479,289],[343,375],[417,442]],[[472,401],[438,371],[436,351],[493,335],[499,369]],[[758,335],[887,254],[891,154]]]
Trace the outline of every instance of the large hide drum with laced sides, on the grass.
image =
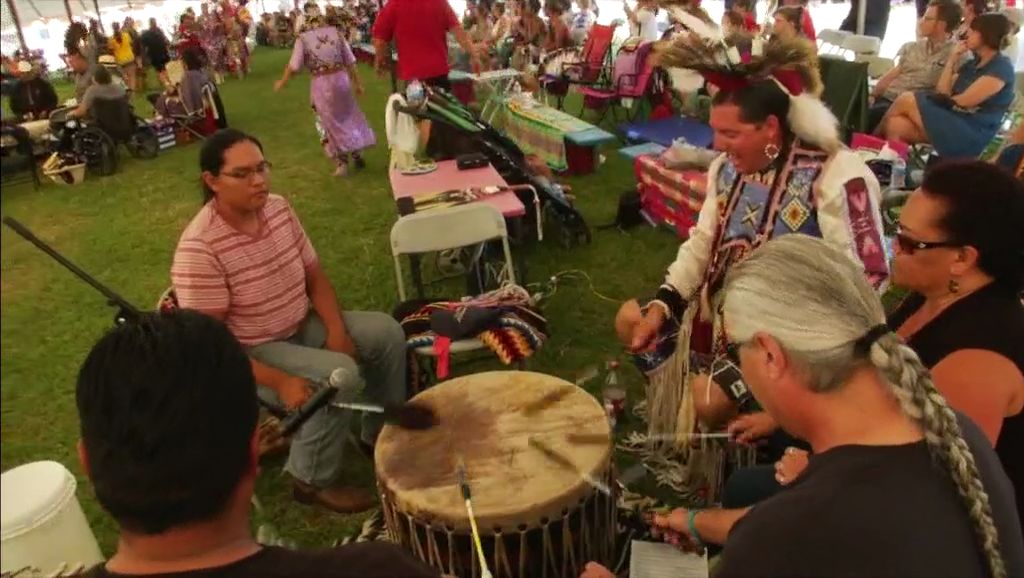
[[[615,503],[594,483],[614,487],[611,438],[597,400],[557,377],[518,371],[460,377],[415,400],[440,424],[386,426],[376,450],[384,518],[398,542],[443,573],[480,575],[461,459],[496,578],[574,578],[589,561],[608,562]],[[569,434],[599,443],[572,444]]]

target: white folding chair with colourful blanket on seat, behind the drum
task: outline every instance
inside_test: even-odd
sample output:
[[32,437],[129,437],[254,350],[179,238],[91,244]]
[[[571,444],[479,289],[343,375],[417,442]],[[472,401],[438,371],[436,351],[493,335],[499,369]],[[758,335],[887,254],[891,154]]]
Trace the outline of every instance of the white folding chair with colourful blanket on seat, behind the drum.
[[[470,203],[452,208],[433,209],[399,218],[391,228],[391,256],[394,258],[398,298],[406,300],[406,281],[401,271],[402,255],[418,255],[469,247],[501,239],[505,255],[507,281],[515,284],[512,249],[505,217],[493,205]],[[452,342],[450,352],[460,354],[484,347],[477,338]],[[434,357],[433,347],[416,348],[416,355]]]

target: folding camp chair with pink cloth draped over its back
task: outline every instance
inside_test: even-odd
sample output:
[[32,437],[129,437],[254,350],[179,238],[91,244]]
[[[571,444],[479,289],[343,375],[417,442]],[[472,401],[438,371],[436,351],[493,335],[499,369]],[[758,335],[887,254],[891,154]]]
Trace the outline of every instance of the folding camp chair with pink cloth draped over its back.
[[[641,44],[635,49],[623,47],[615,55],[615,63],[612,66],[611,84],[606,87],[582,86],[580,92],[583,93],[583,108],[580,110],[580,117],[583,118],[587,109],[600,111],[600,117],[594,124],[601,124],[608,110],[611,110],[611,117],[615,124],[618,124],[616,110],[622,107],[626,113],[626,120],[633,122],[643,108],[642,101],[635,108],[626,107],[630,99],[641,99],[647,96],[654,76],[653,59],[650,58],[653,44]],[[630,109],[633,114],[630,114]]]

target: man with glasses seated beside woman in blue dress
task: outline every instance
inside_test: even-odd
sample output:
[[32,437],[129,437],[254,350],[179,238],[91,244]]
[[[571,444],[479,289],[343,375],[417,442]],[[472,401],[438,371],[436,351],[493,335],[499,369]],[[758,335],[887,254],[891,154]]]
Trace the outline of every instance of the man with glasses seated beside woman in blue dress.
[[929,2],[925,15],[918,23],[919,39],[900,47],[896,66],[871,89],[871,107],[867,113],[870,130],[879,126],[889,107],[903,92],[935,88],[956,45],[952,33],[962,13],[955,0]]

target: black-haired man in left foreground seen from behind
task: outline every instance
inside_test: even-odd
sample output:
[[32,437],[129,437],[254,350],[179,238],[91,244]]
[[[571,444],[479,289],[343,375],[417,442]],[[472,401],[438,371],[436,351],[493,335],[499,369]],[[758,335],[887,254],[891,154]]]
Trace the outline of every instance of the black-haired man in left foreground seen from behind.
[[109,331],[78,375],[82,469],[121,537],[88,578],[420,578],[437,572],[398,546],[323,550],[253,539],[259,474],[256,383],[220,322],[145,314]]

